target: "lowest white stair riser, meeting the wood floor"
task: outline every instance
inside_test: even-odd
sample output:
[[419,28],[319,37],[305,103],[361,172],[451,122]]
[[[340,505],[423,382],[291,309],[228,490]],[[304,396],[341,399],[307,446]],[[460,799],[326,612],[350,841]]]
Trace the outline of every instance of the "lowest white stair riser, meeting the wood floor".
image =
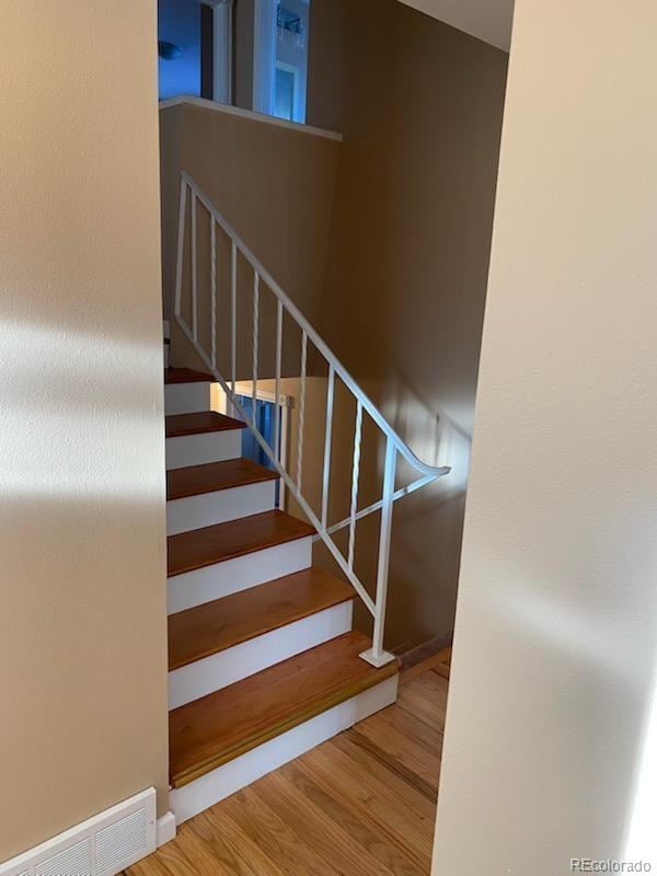
[[176,823],[208,809],[246,785],[283,766],[284,763],[332,739],[338,733],[396,700],[397,676],[382,681],[357,696],[316,715],[291,730],[264,742],[239,758],[218,766],[170,795]]

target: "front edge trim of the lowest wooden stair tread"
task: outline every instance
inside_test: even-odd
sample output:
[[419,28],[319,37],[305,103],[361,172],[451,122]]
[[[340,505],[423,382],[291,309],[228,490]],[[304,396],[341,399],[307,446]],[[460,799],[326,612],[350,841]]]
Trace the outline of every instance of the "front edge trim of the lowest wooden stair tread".
[[[210,758],[206,758],[199,763],[195,763],[194,766],[188,766],[186,770],[182,770],[176,775],[172,775],[170,777],[171,787],[184,787],[185,785],[195,782],[197,779],[200,779],[212,770],[222,766],[224,763],[229,763],[229,761],[239,758],[241,754],[252,751],[254,748],[257,748],[264,742],[268,742],[270,739],[281,736],[284,733],[298,727],[300,724],[304,724],[307,721],[321,715],[323,712],[327,712],[330,708],[344,703],[346,700],[350,700],[353,696],[357,696],[359,693],[364,693],[370,688],[373,688],[376,684],[380,684],[382,681],[387,681],[389,678],[392,678],[395,675],[399,675],[399,665],[396,660],[388,664],[381,669],[377,669],[376,675],[368,672],[367,676],[356,679],[355,681],[345,684],[343,688],[332,691],[326,696],[315,700],[310,705],[307,705],[303,708],[300,708],[298,712],[295,712],[295,714],[288,715],[288,717],[286,717],[284,721],[280,721],[277,724],[272,724],[262,730],[241,739],[238,744],[234,744],[230,748],[227,748]],[[181,707],[184,708],[184,706]]]

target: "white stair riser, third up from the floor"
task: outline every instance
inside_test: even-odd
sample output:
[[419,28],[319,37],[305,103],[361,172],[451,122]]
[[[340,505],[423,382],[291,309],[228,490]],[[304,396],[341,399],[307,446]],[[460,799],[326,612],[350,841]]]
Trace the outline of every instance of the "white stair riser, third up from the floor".
[[168,581],[168,613],[175,614],[258,584],[301,572],[312,564],[312,538],[277,544],[234,560],[175,575]]

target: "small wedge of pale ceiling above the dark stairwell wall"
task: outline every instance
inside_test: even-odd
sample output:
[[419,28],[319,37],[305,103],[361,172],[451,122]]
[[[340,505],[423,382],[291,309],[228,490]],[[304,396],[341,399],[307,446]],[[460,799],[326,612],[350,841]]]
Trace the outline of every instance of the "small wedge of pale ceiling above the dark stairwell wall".
[[505,51],[511,44],[514,0],[401,0]]

